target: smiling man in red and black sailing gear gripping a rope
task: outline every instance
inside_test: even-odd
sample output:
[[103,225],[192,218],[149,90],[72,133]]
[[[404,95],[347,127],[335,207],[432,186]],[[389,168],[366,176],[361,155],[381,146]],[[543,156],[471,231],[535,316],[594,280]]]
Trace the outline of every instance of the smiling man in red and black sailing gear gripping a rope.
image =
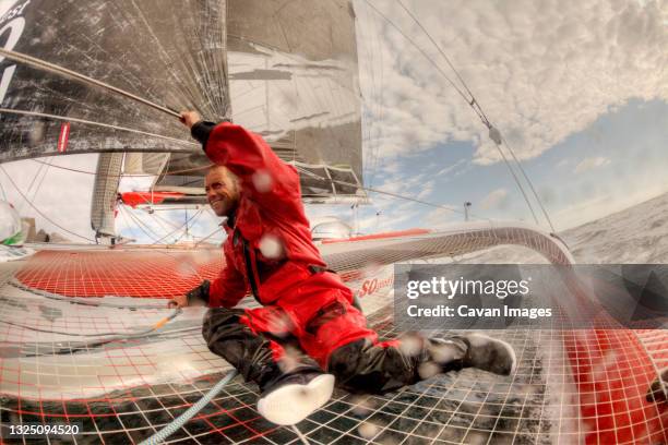
[[[203,300],[211,308],[202,328],[208,348],[260,386],[264,418],[298,423],[330,399],[334,376],[348,390],[383,393],[434,369],[513,371],[512,348],[485,336],[414,334],[380,342],[311,241],[297,170],[239,125],[203,122],[194,111],[184,111],[181,122],[216,164],[206,175],[206,196],[227,217],[226,267],[171,303]],[[262,308],[231,309],[248,291]]]

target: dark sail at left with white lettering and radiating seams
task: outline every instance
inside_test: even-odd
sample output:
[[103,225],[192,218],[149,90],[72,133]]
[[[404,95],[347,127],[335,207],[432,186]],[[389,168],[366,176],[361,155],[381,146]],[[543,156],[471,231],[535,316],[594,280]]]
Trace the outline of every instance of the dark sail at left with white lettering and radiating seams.
[[224,0],[14,3],[0,17],[0,49],[10,51],[0,52],[0,161],[196,153],[165,110],[229,117],[225,9]]

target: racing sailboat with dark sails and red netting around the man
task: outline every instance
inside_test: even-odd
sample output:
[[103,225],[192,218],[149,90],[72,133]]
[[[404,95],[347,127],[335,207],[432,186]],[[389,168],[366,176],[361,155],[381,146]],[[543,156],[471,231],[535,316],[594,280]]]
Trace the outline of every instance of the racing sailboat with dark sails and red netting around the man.
[[[34,243],[35,254],[1,265],[2,436],[11,424],[53,422],[76,425],[61,437],[76,443],[141,442],[230,369],[201,338],[204,309],[165,304],[225,265],[207,243],[123,243],[116,213],[205,206],[208,161],[178,124],[181,109],[263,135],[299,170],[305,203],[368,202],[355,9],[347,0],[20,0],[0,17],[0,161],[100,154],[96,240]],[[150,187],[119,193],[130,175]],[[501,244],[573,264],[554,233],[524,222],[324,237],[319,246],[369,323],[393,337],[394,264]],[[462,372],[383,397],[339,392],[300,434],[260,418],[258,388],[235,380],[169,441],[667,442],[665,411],[645,397],[661,335],[508,330],[521,361],[508,380]]]

